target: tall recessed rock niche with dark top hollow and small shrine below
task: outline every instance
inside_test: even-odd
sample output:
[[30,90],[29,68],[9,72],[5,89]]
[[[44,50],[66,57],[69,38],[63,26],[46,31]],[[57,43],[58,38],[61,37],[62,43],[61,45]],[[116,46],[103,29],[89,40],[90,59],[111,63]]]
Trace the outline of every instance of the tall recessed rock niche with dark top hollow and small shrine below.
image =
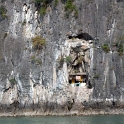
[[[76,36],[68,36],[70,43],[69,57],[71,62],[68,65],[68,83],[71,86],[81,86],[92,89],[90,82],[90,48],[93,37],[88,33],[79,33]],[[89,41],[89,42],[87,42]]]

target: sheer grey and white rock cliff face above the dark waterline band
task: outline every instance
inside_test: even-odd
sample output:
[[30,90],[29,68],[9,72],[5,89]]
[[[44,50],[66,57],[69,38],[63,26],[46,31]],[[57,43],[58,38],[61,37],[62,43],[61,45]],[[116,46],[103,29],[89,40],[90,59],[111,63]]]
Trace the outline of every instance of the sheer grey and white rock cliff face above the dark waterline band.
[[[124,103],[124,1],[74,0],[78,16],[68,17],[65,4],[53,0],[40,15],[33,0],[0,1],[1,108]],[[46,40],[40,50],[32,44],[36,36]],[[74,72],[86,73],[82,86],[69,83]]]

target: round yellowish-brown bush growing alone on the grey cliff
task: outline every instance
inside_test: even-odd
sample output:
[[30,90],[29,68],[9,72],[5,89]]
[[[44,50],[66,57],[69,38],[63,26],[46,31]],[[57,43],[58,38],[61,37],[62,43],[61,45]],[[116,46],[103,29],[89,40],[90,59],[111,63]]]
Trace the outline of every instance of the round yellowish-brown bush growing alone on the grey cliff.
[[46,40],[41,36],[35,36],[32,38],[33,48],[36,50],[41,50],[46,44]]

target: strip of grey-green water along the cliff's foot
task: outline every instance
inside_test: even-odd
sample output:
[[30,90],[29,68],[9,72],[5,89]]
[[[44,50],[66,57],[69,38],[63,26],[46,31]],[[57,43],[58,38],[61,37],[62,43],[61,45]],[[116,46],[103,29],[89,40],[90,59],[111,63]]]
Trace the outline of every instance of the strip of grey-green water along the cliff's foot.
[[1,117],[0,124],[124,124],[124,115]]

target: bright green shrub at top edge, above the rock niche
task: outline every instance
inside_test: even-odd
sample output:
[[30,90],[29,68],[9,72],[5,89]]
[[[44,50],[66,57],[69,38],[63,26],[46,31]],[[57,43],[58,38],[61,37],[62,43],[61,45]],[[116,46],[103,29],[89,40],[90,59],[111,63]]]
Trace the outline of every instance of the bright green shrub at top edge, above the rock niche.
[[68,18],[69,14],[74,12],[75,17],[78,17],[78,10],[76,5],[73,4],[74,0],[67,0],[65,3],[65,16]]

